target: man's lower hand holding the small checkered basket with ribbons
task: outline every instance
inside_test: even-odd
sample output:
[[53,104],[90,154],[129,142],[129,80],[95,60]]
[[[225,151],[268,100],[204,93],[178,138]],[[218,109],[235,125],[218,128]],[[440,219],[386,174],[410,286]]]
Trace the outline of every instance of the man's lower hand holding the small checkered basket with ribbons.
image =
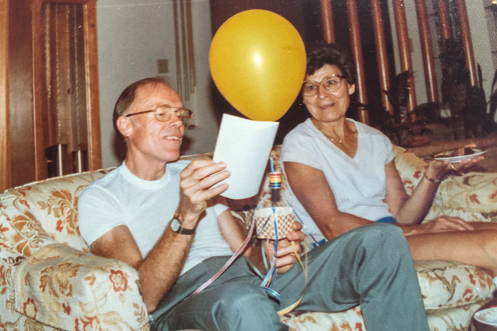
[[[297,253],[299,255],[302,253],[301,243],[305,238],[305,234],[300,231],[302,229],[302,224],[293,222],[292,229],[293,231],[288,232],[285,239],[278,241],[278,249],[276,252],[276,268],[278,269],[278,273],[284,273],[298,263],[297,257],[293,252],[292,241],[295,242]],[[270,261],[272,261],[274,257],[273,243],[274,240],[268,240],[264,243],[265,252]]]

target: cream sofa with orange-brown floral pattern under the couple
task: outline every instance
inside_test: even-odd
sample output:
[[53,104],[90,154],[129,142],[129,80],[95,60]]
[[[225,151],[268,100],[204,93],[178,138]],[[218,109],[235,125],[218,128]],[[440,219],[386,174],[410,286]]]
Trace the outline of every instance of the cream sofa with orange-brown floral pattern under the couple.
[[[279,146],[275,150],[278,155]],[[426,164],[401,148],[395,152],[412,192]],[[90,254],[78,228],[79,195],[110,170],[53,178],[0,194],[0,331],[149,330],[136,271]],[[497,174],[447,178],[428,218],[446,214],[497,221],[496,182]],[[255,198],[232,201],[234,214],[245,224],[267,184],[266,178]],[[283,180],[283,201],[286,185]],[[416,270],[431,330],[467,330],[472,314],[495,290],[491,276],[474,266],[422,261]],[[281,319],[290,330],[366,330],[360,307],[331,314],[292,312]]]

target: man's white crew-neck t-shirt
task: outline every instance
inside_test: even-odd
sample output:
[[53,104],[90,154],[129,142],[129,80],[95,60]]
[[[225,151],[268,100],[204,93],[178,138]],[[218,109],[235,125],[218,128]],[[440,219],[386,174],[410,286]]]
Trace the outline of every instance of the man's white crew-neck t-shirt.
[[[91,245],[112,228],[126,225],[146,257],[174,216],[179,174],[189,162],[167,164],[166,174],[156,181],[136,177],[123,164],[91,183],[78,202],[80,232],[86,243]],[[233,253],[217,223],[217,216],[227,208],[216,204],[206,209],[181,274],[207,258]]]

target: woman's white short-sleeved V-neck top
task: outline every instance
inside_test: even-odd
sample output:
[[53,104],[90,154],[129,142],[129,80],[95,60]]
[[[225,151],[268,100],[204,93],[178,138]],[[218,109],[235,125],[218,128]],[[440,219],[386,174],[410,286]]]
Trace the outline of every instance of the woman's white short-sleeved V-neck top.
[[[353,158],[336,147],[311,119],[299,124],[283,140],[281,163],[298,162],[319,169],[331,187],[342,212],[375,221],[392,216],[385,203],[385,165],[394,158],[386,135],[362,123],[347,119],[357,128],[357,152]],[[290,204],[316,240],[323,234],[290,191]]]

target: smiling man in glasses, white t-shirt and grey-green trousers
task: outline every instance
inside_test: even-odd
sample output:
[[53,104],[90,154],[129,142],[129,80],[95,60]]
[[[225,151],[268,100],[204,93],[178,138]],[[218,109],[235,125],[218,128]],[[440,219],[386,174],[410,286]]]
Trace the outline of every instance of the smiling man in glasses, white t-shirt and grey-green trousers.
[[[228,188],[215,186],[230,176],[226,165],[177,161],[188,116],[160,78],[122,92],[114,120],[126,160],[80,197],[83,238],[92,253],[138,270],[152,330],[288,330],[277,311],[296,302],[304,287],[288,240],[277,250],[280,304],[267,297],[245,258],[192,294],[224,265],[243,234],[229,210],[213,202]],[[294,229],[288,239],[300,243],[300,226]],[[255,254],[246,256],[258,264]],[[342,311],[359,303],[368,330],[428,330],[411,254],[394,226],[361,227],[309,254],[309,283],[298,310]]]

